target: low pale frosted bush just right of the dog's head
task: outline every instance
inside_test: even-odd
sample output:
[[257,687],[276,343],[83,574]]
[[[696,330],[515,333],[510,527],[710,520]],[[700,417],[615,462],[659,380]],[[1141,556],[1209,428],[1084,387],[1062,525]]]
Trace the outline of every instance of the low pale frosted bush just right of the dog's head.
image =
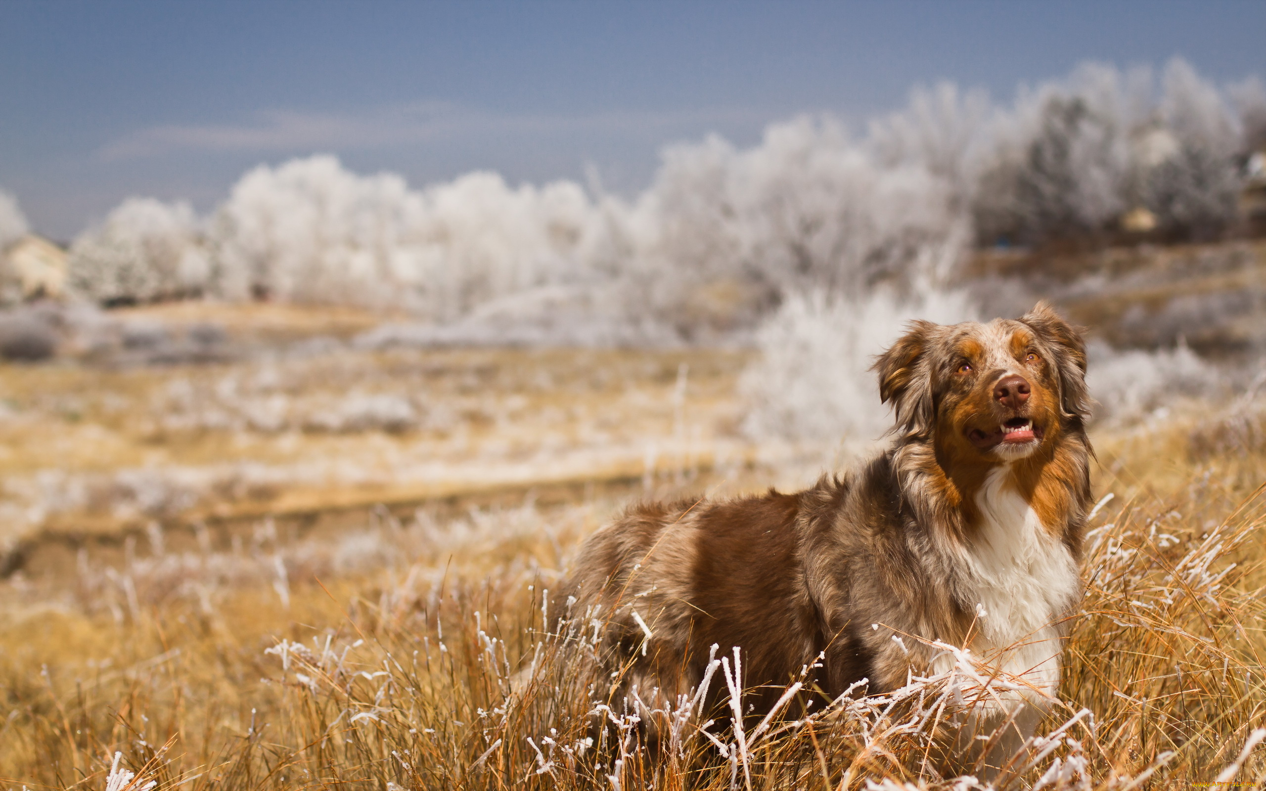
[[1087,356],[1086,386],[1099,401],[1096,419],[1137,420],[1175,397],[1205,394],[1209,382],[1219,378],[1185,343],[1156,352],[1118,352],[1093,342]]

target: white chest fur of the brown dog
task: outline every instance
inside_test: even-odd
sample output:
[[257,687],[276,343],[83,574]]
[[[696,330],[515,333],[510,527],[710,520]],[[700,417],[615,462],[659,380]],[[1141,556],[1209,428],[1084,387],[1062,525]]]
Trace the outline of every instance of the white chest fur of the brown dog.
[[976,494],[963,591],[980,614],[972,653],[1051,694],[1060,682],[1056,621],[1077,596],[1077,566],[1012,485],[1009,467],[995,468]]

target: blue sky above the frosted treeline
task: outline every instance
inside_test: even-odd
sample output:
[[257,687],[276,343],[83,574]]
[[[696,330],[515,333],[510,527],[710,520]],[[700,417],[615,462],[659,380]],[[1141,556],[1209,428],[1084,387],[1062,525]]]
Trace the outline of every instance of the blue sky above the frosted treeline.
[[0,189],[68,239],[129,195],[206,210],[314,152],[632,192],[657,152],[846,120],[950,78],[1009,99],[1099,59],[1266,76],[1266,3],[0,0]]

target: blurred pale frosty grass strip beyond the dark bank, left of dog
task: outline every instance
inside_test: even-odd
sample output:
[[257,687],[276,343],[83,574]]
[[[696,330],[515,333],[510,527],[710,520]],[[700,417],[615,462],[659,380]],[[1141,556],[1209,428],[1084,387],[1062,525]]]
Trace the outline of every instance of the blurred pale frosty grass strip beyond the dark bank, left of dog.
[[230,362],[0,366],[0,543],[680,478],[752,456],[736,433],[743,352],[366,352],[338,339],[358,314],[248,308],[127,318],[218,318]]

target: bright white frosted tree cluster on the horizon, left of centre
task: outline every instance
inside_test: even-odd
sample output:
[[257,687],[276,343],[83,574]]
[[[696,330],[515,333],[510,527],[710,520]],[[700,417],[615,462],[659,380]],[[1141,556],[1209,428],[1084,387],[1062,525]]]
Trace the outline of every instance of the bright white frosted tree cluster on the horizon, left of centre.
[[510,189],[476,172],[424,191],[333,157],[258,167],[216,218],[222,290],[279,301],[395,306],[447,320],[575,280],[598,213],[568,182]]

